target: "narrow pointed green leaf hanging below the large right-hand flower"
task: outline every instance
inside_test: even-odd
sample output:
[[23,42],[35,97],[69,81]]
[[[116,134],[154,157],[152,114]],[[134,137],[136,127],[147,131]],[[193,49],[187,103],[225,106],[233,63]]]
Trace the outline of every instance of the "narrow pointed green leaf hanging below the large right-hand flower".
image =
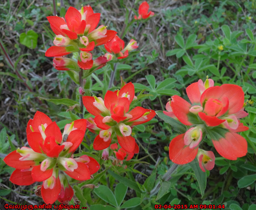
[[197,158],[189,163],[192,170],[195,172],[196,179],[199,184],[202,197],[204,196],[204,190],[206,188],[206,172],[203,172],[198,164]]

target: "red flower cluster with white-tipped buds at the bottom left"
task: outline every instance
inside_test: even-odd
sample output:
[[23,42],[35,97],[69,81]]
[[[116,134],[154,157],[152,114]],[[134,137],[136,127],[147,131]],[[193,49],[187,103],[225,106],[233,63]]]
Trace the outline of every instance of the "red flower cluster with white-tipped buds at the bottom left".
[[81,144],[85,130],[86,120],[81,119],[67,124],[61,134],[56,122],[37,111],[34,119],[28,121],[26,129],[31,148],[18,148],[4,158],[8,166],[16,168],[10,181],[17,185],[43,182],[36,191],[46,204],[56,200],[69,202],[74,192],[65,175],[83,181],[100,169],[98,162],[87,155],[73,158],[72,154]]

